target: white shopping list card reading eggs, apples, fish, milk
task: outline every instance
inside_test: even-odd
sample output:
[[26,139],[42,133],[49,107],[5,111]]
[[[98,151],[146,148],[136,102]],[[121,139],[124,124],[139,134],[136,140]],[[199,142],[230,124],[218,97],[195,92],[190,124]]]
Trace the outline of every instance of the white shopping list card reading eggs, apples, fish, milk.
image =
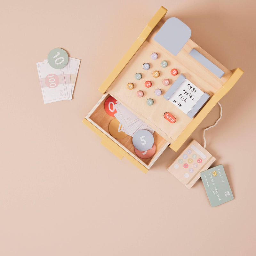
[[185,114],[188,114],[203,94],[204,92],[186,78],[169,100]]

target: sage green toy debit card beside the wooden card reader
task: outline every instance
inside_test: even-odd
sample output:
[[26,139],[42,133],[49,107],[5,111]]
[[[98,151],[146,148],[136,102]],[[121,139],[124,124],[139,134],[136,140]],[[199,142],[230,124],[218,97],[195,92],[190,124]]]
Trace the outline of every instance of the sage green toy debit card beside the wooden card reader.
[[212,207],[234,199],[222,164],[201,172],[200,176]]

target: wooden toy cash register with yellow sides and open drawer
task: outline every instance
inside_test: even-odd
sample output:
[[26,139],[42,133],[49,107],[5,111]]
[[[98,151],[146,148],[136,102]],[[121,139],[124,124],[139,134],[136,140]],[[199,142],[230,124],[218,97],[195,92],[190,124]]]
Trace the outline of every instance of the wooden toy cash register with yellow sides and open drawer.
[[[149,21],[101,84],[104,95],[83,120],[101,144],[145,173],[166,147],[177,151],[182,146],[244,73],[225,68],[190,39],[186,24],[174,17],[165,20],[166,12],[162,6]],[[136,136],[141,145],[148,138],[151,148],[135,147],[134,127],[149,131]]]

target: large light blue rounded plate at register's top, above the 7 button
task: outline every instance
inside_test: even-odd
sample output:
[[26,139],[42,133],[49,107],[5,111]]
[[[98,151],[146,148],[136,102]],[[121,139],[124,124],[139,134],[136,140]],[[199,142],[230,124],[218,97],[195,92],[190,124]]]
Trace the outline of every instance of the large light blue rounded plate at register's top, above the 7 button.
[[172,17],[164,22],[154,40],[176,56],[188,42],[190,36],[191,29],[181,20]]

